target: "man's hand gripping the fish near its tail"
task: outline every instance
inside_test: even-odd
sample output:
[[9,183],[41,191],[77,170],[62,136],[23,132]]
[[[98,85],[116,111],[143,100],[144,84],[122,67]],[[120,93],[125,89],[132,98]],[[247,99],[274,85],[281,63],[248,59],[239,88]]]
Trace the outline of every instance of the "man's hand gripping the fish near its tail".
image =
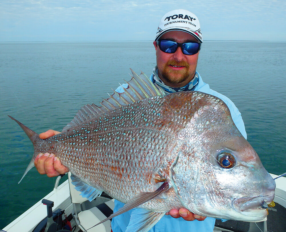
[[[39,137],[40,139],[46,139],[58,133],[60,132],[48,130],[39,134]],[[64,174],[69,171],[54,154],[40,153],[35,158],[34,164],[40,174],[47,174],[48,177],[58,176],[59,174]]]

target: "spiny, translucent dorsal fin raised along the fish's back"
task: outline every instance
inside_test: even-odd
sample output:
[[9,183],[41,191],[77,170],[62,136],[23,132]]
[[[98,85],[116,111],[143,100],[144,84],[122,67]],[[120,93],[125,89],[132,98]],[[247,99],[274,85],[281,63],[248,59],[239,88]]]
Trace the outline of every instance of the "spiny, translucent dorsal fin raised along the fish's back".
[[138,76],[131,68],[130,70],[133,76],[131,76],[130,81],[126,81],[128,84],[127,89],[122,86],[124,89],[123,93],[118,93],[112,89],[114,93],[112,95],[108,94],[109,97],[107,99],[103,98],[103,101],[100,102],[101,106],[88,104],[81,107],[78,113],[74,116],[74,119],[63,128],[63,131],[124,105],[128,105],[148,97],[165,94],[143,72]]

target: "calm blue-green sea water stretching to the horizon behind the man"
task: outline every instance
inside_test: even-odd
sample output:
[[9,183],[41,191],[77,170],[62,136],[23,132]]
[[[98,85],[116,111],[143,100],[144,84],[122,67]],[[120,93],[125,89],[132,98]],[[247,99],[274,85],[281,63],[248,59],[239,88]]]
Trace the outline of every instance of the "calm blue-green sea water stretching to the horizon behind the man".
[[[0,229],[53,189],[33,168],[33,146],[11,115],[40,133],[61,130],[81,106],[97,103],[156,64],[151,41],[0,43]],[[286,172],[286,42],[205,41],[198,72],[239,108],[265,168]]]

